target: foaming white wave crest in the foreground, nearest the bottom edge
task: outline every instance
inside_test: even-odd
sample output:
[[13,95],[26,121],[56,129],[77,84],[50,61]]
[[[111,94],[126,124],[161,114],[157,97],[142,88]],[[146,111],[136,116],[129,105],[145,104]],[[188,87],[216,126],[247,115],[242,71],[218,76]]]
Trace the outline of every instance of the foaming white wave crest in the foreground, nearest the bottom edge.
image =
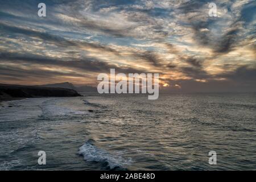
[[107,169],[123,169],[123,165],[129,163],[120,155],[111,155],[107,151],[97,148],[92,144],[93,140],[86,141],[79,148],[79,155],[84,156],[87,162],[99,162]]

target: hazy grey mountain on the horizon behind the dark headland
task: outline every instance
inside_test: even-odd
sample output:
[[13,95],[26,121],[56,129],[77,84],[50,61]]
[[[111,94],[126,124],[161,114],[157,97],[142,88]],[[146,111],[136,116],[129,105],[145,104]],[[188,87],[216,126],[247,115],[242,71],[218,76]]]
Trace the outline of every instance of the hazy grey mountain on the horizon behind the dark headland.
[[43,87],[50,87],[50,88],[65,88],[65,89],[73,89],[77,92],[97,92],[97,88],[93,86],[74,86],[69,82],[57,83],[57,84],[47,84],[47,85],[40,85]]

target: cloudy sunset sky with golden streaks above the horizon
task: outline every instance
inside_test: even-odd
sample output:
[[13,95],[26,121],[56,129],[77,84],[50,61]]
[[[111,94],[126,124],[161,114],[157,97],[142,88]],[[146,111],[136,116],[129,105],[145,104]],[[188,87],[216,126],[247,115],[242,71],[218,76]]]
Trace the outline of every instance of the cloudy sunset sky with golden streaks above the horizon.
[[256,1],[0,2],[0,83],[97,86],[114,68],[167,92],[256,91]]

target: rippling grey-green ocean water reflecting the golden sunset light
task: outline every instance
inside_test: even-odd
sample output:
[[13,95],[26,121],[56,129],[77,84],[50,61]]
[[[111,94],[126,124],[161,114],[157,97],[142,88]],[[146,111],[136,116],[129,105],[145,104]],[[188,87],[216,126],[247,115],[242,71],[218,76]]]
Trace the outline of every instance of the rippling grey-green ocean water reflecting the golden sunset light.
[[1,102],[0,170],[254,170],[255,120],[255,93]]

